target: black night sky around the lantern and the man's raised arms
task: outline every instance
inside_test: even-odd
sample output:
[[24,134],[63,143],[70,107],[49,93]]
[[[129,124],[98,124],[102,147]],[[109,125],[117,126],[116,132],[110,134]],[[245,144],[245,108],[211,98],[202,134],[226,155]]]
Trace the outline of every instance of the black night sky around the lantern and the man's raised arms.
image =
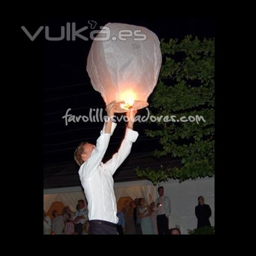
[[[90,18],[92,19],[92,18]],[[67,22],[75,22],[76,28],[89,26],[81,34],[89,38],[89,18],[45,20],[44,26],[49,26],[50,36],[59,36],[60,27]],[[169,40],[172,37],[183,38],[185,35],[214,37],[214,21],[211,19],[97,19],[94,30],[109,22],[126,23],[144,26],[157,34],[159,39]],[[42,31],[44,34],[45,31]],[[92,40],[84,41],[76,38],[75,41],[49,41],[44,40],[44,163],[47,173],[51,172],[49,166],[65,166],[74,163],[73,153],[81,141],[96,142],[103,123],[69,123],[61,118],[67,109],[70,114],[89,115],[92,106],[104,108],[104,101],[100,93],[96,92],[90,84],[86,71],[87,56]],[[150,98],[148,99],[150,103]],[[145,110],[138,111],[143,115]],[[135,124],[134,130],[139,132],[139,138],[134,143],[132,154],[152,152],[159,147],[157,139],[145,137],[143,129],[148,128],[147,123]],[[124,123],[120,123],[113,134],[110,147],[106,152],[108,159],[120,145],[124,134]],[[77,166],[78,167],[78,166]],[[54,172],[54,169],[52,169]]]

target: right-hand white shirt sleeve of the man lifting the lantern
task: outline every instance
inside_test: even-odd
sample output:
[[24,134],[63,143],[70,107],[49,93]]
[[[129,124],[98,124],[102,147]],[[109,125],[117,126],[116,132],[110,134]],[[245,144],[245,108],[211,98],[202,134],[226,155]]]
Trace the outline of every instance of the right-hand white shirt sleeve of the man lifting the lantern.
[[112,159],[104,163],[103,166],[108,168],[113,175],[117,168],[122,164],[126,157],[130,154],[132,144],[138,138],[139,134],[131,129],[126,129],[124,139],[121,146],[116,154],[113,155]]

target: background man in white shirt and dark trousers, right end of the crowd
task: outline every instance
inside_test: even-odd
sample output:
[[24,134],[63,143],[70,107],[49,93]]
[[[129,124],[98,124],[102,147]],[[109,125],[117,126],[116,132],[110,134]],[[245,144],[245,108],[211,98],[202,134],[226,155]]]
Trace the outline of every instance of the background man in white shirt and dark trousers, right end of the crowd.
[[157,230],[158,234],[168,234],[170,199],[163,195],[163,186],[158,188],[159,198],[156,200],[157,207]]

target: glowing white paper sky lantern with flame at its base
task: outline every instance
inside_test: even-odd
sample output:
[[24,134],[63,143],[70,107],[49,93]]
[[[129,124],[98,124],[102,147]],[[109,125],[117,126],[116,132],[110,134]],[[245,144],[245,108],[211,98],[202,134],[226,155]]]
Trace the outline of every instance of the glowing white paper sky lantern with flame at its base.
[[117,112],[145,108],[162,63],[160,42],[147,28],[108,23],[92,43],[87,72],[106,105],[119,103]]

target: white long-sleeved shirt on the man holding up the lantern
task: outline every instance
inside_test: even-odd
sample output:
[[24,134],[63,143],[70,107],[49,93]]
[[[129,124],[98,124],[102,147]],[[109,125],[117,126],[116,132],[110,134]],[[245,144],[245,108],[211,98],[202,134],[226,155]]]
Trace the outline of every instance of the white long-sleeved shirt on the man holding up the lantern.
[[104,123],[91,157],[81,165],[78,173],[88,201],[89,220],[103,220],[117,224],[116,197],[112,176],[130,154],[132,143],[136,141],[139,134],[131,129],[126,129],[119,151],[113,155],[111,160],[102,163],[115,127],[116,123],[112,122],[111,133],[106,134]]

